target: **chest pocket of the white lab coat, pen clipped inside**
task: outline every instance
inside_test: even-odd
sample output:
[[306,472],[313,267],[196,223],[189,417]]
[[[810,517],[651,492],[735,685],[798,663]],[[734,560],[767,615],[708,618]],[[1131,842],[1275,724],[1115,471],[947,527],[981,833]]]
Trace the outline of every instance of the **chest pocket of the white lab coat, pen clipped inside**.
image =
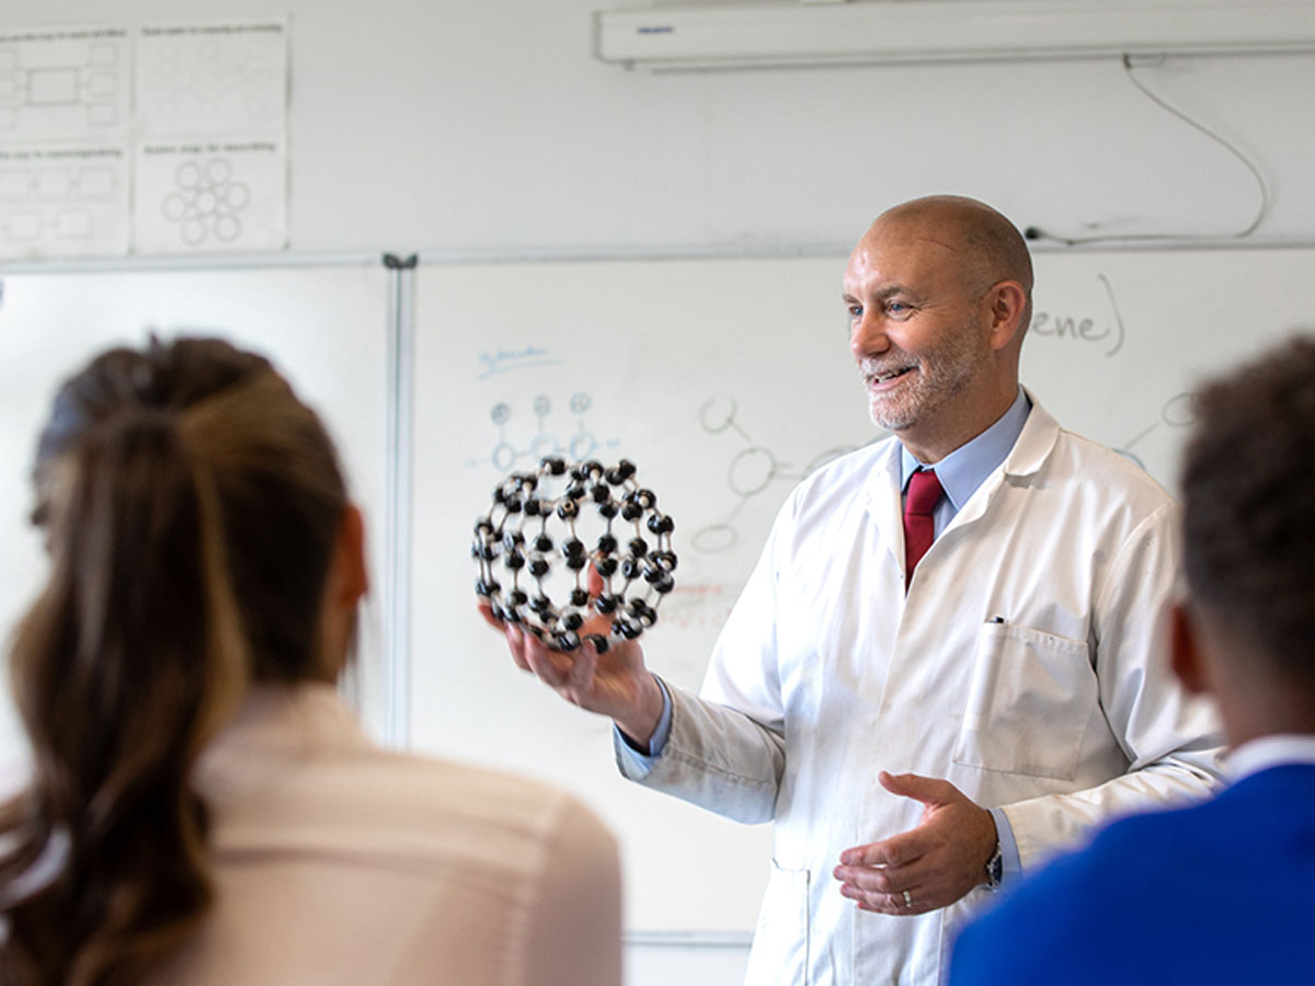
[[984,623],[955,763],[1072,780],[1097,698],[1085,640]]

